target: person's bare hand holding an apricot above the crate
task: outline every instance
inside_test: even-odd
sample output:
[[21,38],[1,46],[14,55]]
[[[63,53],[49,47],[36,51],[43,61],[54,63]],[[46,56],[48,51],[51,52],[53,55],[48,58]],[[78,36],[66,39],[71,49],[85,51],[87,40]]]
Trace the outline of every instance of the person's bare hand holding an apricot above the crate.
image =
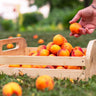
[[96,29],[96,9],[92,7],[94,5],[96,7],[96,0],[93,0],[93,3],[77,12],[74,18],[69,21],[70,24],[77,22],[79,19],[79,23],[82,25],[82,28],[79,29],[80,34],[72,34],[70,36],[80,37],[81,35],[91,34]]

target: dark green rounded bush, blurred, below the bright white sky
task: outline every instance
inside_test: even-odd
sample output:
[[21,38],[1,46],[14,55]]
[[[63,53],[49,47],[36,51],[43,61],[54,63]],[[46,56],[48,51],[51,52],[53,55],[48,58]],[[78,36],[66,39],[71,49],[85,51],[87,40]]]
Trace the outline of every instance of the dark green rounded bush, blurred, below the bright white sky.
[[43,15],[39,12],[23,14],[23,26],[33,25],[43,19]]

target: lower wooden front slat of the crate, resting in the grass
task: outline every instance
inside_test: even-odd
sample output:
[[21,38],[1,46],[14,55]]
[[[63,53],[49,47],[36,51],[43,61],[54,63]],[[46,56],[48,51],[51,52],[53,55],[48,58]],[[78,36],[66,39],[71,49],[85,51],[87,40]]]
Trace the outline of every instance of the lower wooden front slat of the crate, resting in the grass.
[[37,69],[37,68],[9,68],[7,66],[0,67],[0,72],[8,75],[17,74],[23,72],[31,77],[37,77],[38,75],[49,75],[57,78],[72,78],[72,79],[85,79],[84,70],[71,70],[71,69]]

